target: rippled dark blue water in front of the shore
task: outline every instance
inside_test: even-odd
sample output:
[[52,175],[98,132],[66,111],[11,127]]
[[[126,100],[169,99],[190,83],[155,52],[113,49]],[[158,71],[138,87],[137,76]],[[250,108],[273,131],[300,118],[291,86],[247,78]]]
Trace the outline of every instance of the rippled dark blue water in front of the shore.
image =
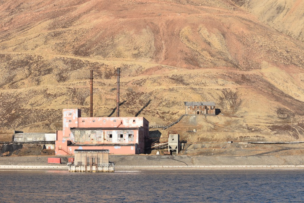
[[304,202],[304,170],[16,170],[0,186],[0,202]]

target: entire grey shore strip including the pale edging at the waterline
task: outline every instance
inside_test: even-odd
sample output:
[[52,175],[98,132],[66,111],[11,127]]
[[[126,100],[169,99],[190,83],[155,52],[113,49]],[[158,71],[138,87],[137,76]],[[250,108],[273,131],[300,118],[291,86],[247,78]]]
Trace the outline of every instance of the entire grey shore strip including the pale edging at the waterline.
[[[57,156],[61,163],[47,163],[49,156],[0,157],[0,170],[68,170],[71,156]],[[55,156],[53,156],[55,157]],[[110,155],[116,170],[247,170],[304,169],[304,156],[140,156]]]

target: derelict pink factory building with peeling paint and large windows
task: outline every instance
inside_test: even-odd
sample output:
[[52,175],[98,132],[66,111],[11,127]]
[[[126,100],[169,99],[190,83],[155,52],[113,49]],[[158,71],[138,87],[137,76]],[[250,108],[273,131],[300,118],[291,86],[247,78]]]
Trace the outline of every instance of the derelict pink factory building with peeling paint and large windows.
[[149,138],[149,121],[144,117],[81,117],[80,109],[64,109],[62,124],[62,131],[57,131],[56,155],[72,155],[75,149],[139,154]]

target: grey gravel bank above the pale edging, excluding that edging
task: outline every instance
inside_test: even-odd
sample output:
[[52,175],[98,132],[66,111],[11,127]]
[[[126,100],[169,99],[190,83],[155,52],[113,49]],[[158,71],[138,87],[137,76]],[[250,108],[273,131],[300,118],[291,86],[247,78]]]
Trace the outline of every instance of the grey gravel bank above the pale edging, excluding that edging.
[[[0,157],[0,165],[22,166],[64,166],[68,157],[61,158],[61,164],[47,163],[50,156]],[[242,166],[242,165],[304,165],[304,157],[290,156],[145,156],[111,155],[110,161],[116,166]]]

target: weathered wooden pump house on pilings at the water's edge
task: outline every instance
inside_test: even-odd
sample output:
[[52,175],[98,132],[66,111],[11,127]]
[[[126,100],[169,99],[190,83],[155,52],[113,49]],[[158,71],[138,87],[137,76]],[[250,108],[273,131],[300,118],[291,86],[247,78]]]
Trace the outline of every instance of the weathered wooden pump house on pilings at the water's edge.
[[75,149],[69,171],[114,172],[114,163],[109,162],[109,149]]

